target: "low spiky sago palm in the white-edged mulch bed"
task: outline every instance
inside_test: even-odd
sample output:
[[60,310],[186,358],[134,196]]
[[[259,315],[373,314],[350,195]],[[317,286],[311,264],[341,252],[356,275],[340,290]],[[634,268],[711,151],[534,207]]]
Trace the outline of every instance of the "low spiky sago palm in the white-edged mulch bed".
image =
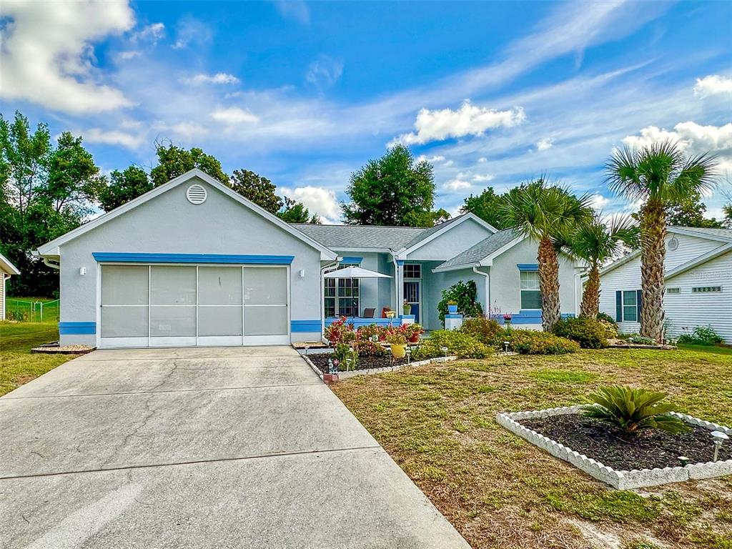
[[689,425],[672,416],[673,406],[661,403],[663,392],[632,389],[619,385],[605,386],[589,395],[593,404],[585,406],[585,415],[620,427],[627,433],[644,429],[660,429],[669,433],[683,433]]

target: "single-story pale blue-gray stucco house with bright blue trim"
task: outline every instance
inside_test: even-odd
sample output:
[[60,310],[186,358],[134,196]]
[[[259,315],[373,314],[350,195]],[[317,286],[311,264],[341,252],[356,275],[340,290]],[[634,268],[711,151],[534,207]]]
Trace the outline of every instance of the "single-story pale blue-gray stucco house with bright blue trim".
[[[105,347],[320,340],[345,315],[384,324],[412,305],[441,327],[441,292],[474,280],[486,312],[540,328],[537,244],[474,214],[433,228],[284,223],[192,170],[39,248],[60,269],[61,344]],[[359,266],[381,278],[329,278]],[[562,312],[580,296],[561,259]],[[397,318],[397,321],[399,319]]]

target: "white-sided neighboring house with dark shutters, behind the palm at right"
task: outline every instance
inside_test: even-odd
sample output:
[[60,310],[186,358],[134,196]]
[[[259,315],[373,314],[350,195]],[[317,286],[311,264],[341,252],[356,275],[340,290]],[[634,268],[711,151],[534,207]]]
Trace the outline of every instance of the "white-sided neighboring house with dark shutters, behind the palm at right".
[[[669,227],[663,300],[666,334],[712,326],[732,342],[732,230]],[[624,333],[641,329],[641,254],[636,251],[600,272],[600,311]]]

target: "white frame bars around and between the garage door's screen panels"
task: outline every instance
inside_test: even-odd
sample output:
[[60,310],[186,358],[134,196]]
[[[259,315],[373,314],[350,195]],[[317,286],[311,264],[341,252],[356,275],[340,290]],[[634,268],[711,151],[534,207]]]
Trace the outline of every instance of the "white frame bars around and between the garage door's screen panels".
[[[272,256],[276,258],[277,256]],[[279,258],[277,258],[279,259]],[[291,261],[291,258],[286,257]],[[187,266],[195,267],[196,269],[196,335],[195,336],[184,336],[184,337],[151,337],[148,333],[147,337],[102,337],[102,268],[103,266],[146,266],[149,268],[149,273],[152,272],[153,266]],[[284,335],[246,335],[246,327],[244,325],[244,318],[242,318],[242,336],[199,336],[198,335],[198,268],[199,267],[235,267],[242,269],[242,285],[244,284],[244,269],[258,269],[258,268],[278,268],[285,269],[285,280],[286,280],[286,291],[287,291],[287,303],[285,305],[286,315],[286,329],[287,333]],[[242,291],[244,288],[242,287]],[[152,288],[148,283],[148,306],[150,307],[150,294],[152,294]],[[223,262],[209,262],[203,261],[200,263],[194,263],[192,261],[182,262],[163,262],[163,261],[103,261],[97,262],[97,326],[100,329],[97,330],[97,348],[139,348],[139,347],[193,347],[193,346],[267,346],[267,345],[289,345],[291,342],[291,265],[289,261],[285,264],[284,261],[275,263],[266,263],[264,261],[258,261],[257,263],[234,263],[232,261]],[[262,307],[264,305],[250,305]],[[272,305],[281,306],[281,305]],[[244,303],[244,296],[242,294],[242,317],[244,310],[247,305]],[[148,326],[152,318],[148,315]]]

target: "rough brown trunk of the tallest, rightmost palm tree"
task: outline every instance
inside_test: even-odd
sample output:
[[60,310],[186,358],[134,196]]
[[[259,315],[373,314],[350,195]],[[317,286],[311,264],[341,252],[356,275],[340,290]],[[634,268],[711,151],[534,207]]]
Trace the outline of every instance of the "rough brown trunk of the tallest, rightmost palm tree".
[[665,236],[663,203],[651,198],[641,209],[641,335],[657,343],[663,340]]

